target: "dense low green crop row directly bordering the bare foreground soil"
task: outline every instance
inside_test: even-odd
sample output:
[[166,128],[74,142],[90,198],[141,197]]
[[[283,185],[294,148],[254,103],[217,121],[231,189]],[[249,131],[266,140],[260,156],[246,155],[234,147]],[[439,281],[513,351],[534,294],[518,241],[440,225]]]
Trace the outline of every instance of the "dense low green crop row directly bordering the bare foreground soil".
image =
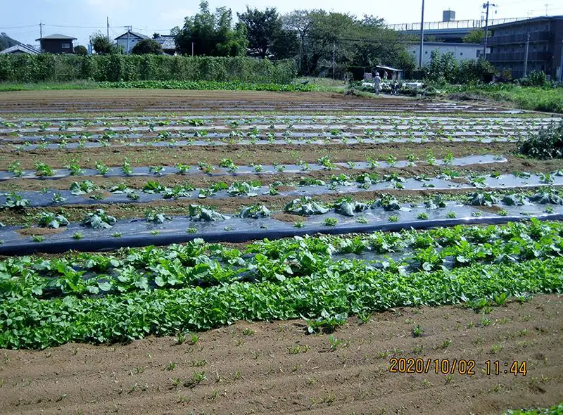
[[0,347],[43,348],[68,342],[115,343],[198,331],[237,320],[318,318],[390,307],[444,305],[563,288],[563,258],[471,264],[452,271],[400,274],[362,262],[333,262],[322,273],[276,283],[136,291],[101,298],[13,298],[0,304]]

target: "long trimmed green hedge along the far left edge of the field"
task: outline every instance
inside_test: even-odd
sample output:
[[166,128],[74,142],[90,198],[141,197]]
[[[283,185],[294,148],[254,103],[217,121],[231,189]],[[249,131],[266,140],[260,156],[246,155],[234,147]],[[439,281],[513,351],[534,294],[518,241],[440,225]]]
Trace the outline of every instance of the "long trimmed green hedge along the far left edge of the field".
[[293,60],[165,55],[0,55],[0,82],[137,80],[239,81],[288,84]]

